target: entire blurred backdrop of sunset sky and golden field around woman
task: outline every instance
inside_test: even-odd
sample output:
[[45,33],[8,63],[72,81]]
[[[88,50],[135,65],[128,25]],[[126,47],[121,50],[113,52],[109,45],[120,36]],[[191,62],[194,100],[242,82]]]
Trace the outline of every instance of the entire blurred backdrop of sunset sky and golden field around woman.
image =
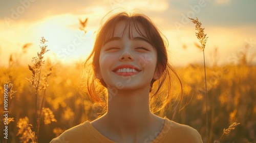
[[[205,50],[209,140],[218,140],[224,128],[237,122],[241,124],[220,142],[256,142],[255,3],[254,0],[1,2],[0,143],[32,141],[36,104],[35,89],[27,80],[31,78],[27,65],[32,65],[29,61],[39,50],[37,43],[41,36],[49,40],[51,50],[45,56],[42,74],[51,71],[51,75],[47,79],[38,142],[49,142],[63,131],[97,118],[99,109],[79,88],[80,73],[84,58],[92,50],[95,32],[102,24],[101,18],[123,8],[142,10],[152,18],[169,41],[170,60],[178,65],[175,67],[183,83],[184,108],[179,112],[177,106],[156,114],[197,129],[206,142],[203,55],[201,49],[196,50],[199,44],[195,44],[195,28],[187,18],[199,17],[209,36]],[[2,120],[4,85],[8,81],[16,92],[8,100],[10,123],[5,140]],[[38,101],[42,100],[42,91],[38,92]]]

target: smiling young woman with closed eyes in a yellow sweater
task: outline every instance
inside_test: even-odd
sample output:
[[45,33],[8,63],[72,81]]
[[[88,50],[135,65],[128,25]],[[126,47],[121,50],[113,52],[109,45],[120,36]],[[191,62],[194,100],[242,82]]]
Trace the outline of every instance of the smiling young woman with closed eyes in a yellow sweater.
[[202,142],[195,129],[154,114],[175,98],[172,90],[164,90],[172,89],[171,78],[177,76],[167,59],[165,42],[150,18],[113,15],[86,61],[91,69],[87,92],[104,114],[51,142]]

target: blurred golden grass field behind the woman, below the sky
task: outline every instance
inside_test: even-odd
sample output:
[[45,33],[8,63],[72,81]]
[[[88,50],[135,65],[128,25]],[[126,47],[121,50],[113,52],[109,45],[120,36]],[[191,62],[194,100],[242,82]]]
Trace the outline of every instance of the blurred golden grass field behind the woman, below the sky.
[[[217,50],[215,51],[217,52]],[[208,88],[208,136],[210,142],[218,140],[224,128],[233,122],[241,123],[231,133],[222,137],[220,142],[256,142],[256,66],[247,60],[246,53],[240,56],[237,64],[206,67]],[[49,66],[46,60],[42,73]],[[35,91],[26,80],[31,77],[27,66],[20,65],[18,56],[9,59],[8,67],[0,67],[0,91],[3,93],[6,81],[13,83],[13,98],[9,99],[9,117],[13,121],[8,125],[7,142],[23,142],[28,136],[26,129],[17,127],[20,118],[26,124],[35,123]],[[98,114],[96,107],[88,97],[79,92],[80,73],[83,62],[65,65],[55,63],[48,78],[44,107],[51,112],[42,113],[39,129],[39,142],[49,142],[63,131],[84,121],[94,120]],[[183,82],[184,100],[188,102],[180,112],[178,108],[162,110],[157,114],[166,116],[175,122],[189,125],[199,131],[206,142],[206,103],[203,66],[189,64],[177,67]],[[11,101],[11,102],[10,102]],[[0,98],[0,113],[3,118],[3,94]],[[54,116],[53,116],[54,115]],[[25,118],[27,117],[27,118]],[[48,118],[47,118],[48,117]],[[26,119],[26,122],[25,122]],[[29,121],[28,121],[28,120]],[[19,125],[25,126],[24,124]],[[48,124],[50,123],[50,124]],[[4,126],[1,121],[1,142],[4,140]],[[27,124],[26,124],[27,126]],[[17,135],[19,131],[21,134]],[[24,137],[24,138],[22,138]]]

